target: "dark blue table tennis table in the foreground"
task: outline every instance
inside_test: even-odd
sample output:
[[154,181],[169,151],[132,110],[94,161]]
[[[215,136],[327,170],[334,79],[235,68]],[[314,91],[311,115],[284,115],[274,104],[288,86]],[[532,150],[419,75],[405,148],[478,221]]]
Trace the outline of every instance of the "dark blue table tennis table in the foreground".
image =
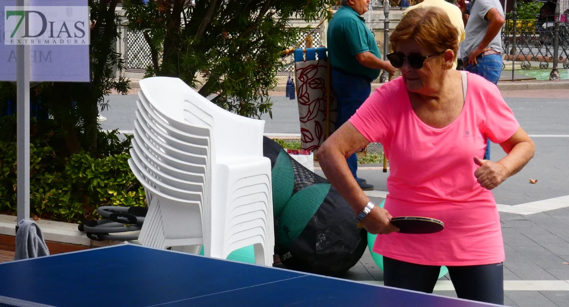
[[0,307],[497,306],[138,245],[0,264]]

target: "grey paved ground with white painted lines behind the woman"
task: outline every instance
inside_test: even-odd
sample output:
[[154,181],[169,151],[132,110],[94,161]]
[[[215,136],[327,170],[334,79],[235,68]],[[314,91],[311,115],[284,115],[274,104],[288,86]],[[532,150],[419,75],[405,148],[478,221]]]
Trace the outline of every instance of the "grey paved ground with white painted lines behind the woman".
[[[531,206],[527,203],[546,200],[538,203],[538,211],[543,212],[500,213],[506,251],[505,302],[519,307],[569,307],[569,197],[549,200],[569,195],[569,90],[517,91],[502,95],[522,128],[533,136],[537,149],[535,158],[525,169],[496,188],[494,196],[498,204],[508,206]],[[296,100],[282,95],[273,98],[273,119],[263,116],[267,121],[265,131],[298,133]],[[135,99],[135,95],[109,96],[110,108],[102,112],[108,120],[101,123],[102,129],[131,131]],[[503,156],[500,147],[493,145],[492,160]],[[316,172],[321,174],[319,170]],[[368,169],[359,174],[374,184],[376,190],[386,191],[385,180],[389,173]],[[538,183],[530,184],[529,179],[538,179]],[[547,210],[551,206],[559,209]],[[345,278],[381,283],[383,275],[366,253]],[[441,295],[456,296],[447,277],[440,280],[435,290]]]

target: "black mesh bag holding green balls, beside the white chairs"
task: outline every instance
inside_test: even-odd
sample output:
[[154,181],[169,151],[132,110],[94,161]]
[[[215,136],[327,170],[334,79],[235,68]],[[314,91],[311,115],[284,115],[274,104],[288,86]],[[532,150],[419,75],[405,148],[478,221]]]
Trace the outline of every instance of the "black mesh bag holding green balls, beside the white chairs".
[[275,253],[281,262],[291,270],[344,274],[368,245],[348,202],[270,138],[263,141],[263,153],[271,160]]

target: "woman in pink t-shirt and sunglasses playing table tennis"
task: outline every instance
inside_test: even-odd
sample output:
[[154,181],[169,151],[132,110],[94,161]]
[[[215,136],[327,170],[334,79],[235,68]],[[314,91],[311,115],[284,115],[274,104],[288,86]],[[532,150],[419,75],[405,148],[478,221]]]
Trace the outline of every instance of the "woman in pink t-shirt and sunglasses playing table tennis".
[[[409,11],[388,56],[403,77],[373,92],[317,157],[365,229],[382,234],[373,250],[384,255],[385,285],[432,292],[447,266],[459,297],[503,304],[504,243],[490,190],[518,173],[535,146],[495,85],[451,69],[457,36],[442,10]],[[508,155],[481,159],[488,138]],[[345,162],[369,142],[383,144],[390,162],[385,209],[370,202]],[[392,216],[432,217],[445,228],[397,233]]]

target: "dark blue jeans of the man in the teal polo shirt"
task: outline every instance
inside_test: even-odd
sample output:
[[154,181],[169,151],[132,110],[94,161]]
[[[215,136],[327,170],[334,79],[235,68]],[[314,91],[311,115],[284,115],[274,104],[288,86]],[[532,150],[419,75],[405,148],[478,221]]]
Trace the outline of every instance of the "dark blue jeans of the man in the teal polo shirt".
[[[338,104],[336,129],[339,129],[368,99],[372,84],[365,78],[332,69],[332,91]],[[346,161],[357,181],[357,155],[352,154]]]

